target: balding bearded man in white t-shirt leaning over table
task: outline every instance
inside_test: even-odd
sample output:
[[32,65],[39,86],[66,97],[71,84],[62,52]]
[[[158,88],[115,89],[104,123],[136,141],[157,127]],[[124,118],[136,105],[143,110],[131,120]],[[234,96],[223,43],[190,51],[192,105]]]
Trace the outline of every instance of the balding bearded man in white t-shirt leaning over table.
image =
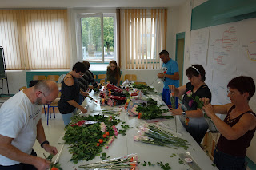
[[0,109],[0,169],[46,170],[50,161],[37,157],[32,149],[35,140],[50,154],[57,149],[49,145],[42,127],[42,105],[58,97],[54,81],[39,81],[3,103]]

